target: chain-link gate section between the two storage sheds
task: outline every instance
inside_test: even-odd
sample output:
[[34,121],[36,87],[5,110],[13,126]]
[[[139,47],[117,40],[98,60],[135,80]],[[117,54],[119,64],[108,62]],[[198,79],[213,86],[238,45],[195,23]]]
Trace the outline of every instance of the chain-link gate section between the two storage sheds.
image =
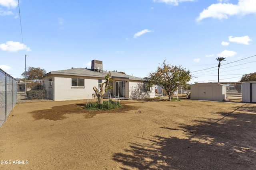
[[242,86],[240,82],[222,83],[226,86],[226,98],[242,101]]

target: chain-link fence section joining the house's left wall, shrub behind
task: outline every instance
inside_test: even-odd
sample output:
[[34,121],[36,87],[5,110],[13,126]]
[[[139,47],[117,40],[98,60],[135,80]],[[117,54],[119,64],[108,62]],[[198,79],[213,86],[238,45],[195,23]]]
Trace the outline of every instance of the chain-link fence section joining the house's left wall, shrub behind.
[[17,80],[18,103],[54,100],[53,81]]

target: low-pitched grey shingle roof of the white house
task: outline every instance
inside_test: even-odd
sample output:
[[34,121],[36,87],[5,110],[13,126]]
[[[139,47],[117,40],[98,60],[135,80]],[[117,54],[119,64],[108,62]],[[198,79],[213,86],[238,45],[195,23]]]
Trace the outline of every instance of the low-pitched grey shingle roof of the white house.
[[[108,71],[104,70],[91,70],[88,68],[71,68],[67,70],[58,70],[58,71],[51,71],[46,74],[44,74],[42,77],[48,76],[50,74],[60,74],[60,75],[70,75],[70,76],[86,76],[86,77],[99,77],[99,78],[105,78],[105,76],[108,74]],[[128,80],[139,80],[144,81],[144,78],[130,76],[127,74],[122,74],[120,72],[111,71],[112,78],[123,78]]]

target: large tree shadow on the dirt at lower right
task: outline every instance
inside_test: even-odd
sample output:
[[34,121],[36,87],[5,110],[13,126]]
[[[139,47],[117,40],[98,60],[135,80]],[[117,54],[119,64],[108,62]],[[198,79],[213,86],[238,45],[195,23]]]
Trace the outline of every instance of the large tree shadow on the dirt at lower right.
[[[152,136],[145,143],[130,143],[124,152],[115,153],[123,170],[255,170],[256,107],[234,107],[220,119],[180,124],[186,138]],[[148,144],[150,143],[150,144]]]

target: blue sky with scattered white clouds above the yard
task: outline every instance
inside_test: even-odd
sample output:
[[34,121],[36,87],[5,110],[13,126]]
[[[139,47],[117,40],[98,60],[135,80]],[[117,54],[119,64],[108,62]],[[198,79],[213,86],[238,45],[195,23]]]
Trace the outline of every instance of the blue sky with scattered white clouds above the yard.
[[0,0],[0,68],[23,78],[90,68],[147,77],[165,61],[195,82],[256,72],[256,0]]

